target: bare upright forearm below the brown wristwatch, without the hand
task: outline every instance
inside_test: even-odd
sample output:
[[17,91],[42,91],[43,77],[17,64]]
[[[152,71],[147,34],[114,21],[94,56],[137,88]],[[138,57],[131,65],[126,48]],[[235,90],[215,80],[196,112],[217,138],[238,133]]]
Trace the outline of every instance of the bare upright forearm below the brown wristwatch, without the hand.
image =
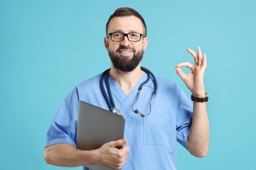
[[188,134],[187,148],[197,157],[206,156],[209,148],[209,120],[206,103],[194,102],[192,124]]

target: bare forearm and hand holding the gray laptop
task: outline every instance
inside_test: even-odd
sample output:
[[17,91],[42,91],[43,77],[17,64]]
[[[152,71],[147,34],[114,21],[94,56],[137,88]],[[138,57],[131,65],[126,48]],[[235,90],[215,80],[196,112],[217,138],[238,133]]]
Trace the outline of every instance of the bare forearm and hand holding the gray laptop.
[[[96,150],[78,150],[71,144],[53,144],[45,148],[43,157],[46,163],[62,167],[104,165],[121,169],[129,152],[129,147],[125,146],[125,143],[126,139],[112,141]],[[116,148],[122,145],[123,148]]]

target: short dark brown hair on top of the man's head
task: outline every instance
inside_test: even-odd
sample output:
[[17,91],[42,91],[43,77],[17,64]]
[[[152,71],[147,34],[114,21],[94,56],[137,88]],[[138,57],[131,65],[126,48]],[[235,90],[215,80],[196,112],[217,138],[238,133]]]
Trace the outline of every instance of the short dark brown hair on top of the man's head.
[[139,18],[139,20],[144,25],[144,34],[147,33],[146,32],[146,23],[145,23],[144,19],[142,18],[142,16],[139,14],[139,12],[137,12],[134,9],[125,7],[125,8],[116,9],[115,12],[110,16],[110,18],[108,18],[108,22],[106,24],[106,34],[108,34],[108,24],[110,24],[110,20],[112,20],[114,17],[118,17],[118,16],[135,16],[135,17]]

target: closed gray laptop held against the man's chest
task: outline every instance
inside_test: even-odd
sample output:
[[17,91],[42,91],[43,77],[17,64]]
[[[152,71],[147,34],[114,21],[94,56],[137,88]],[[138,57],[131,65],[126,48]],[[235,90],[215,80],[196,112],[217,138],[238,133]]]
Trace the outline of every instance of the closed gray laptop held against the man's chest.
[[[94,150],[105,143],[123,139],[125,118],[109,110],[79,101],[76,148]],[[94,170],[110,169],[100,165],[87,166]]]

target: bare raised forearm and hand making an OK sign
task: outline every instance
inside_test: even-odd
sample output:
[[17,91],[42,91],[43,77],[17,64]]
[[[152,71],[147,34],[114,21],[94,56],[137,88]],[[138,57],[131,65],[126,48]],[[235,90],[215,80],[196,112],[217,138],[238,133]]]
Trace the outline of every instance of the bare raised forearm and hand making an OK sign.
[[[184,81],[194,97],[205,97],[203,75],[207,67],[206,54],[202,55],[200,46],[197,54],[190,48],[187,50],[194,57],[194,65],[191,63],[179,63],[176,66],[177,74]],[[181,67],[188,67],[191,73],[186,75]],[[209,148],[209,120],[206,102],[194,102],[192,124],[187,139],[187,148],[196,157],[206,156]]]

